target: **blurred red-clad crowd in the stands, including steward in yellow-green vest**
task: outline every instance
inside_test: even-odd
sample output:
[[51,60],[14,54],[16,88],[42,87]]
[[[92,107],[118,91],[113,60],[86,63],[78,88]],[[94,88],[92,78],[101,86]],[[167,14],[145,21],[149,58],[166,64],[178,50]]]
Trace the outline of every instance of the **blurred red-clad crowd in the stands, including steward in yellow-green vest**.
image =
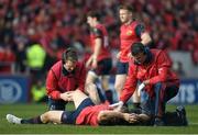
[[197,0],[0,0],[0,72],[30,74],[33,82],[45,80],[68,46],[86,60],[89,10],[101,14],[113,54],[119,49],[118,7],[123,2],[144,22],[153,38],[150,47],[190,52],[198,65]]

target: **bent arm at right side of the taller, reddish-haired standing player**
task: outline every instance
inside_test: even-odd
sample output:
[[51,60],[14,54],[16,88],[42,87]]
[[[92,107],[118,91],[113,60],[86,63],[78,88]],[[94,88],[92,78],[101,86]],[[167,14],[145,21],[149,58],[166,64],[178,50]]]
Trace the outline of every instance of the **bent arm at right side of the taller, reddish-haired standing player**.
[[141,37],[141,43],[143,45],[147,45],[152,42],[152,38],[151,38],[150,34],[145,31],[145,27],[143,24],[136,25],[135,32],[136,32],[136,35],[139,37]]

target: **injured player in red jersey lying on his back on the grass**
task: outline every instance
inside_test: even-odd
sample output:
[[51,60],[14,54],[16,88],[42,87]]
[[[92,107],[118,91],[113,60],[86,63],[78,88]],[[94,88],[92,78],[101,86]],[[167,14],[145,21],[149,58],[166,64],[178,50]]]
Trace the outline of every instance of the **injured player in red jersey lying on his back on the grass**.
[[[32,119],[20,119],[12,114],[7,114],[9,123],[14,124],[77,124],[77,125],[133,125],[133,124],[147,124],[151,116],[146,114],[123,113],[113,111],[109,103],[95,105],[90,98],[79,90],[69,91],[64,93],[64,97],[74,101],[75,111],[47,111],[40,116]],[[186,115],[185,115],[186,116]],[[179,122],[182,117],[175,115]],[[184,125],[184,124],[183,124]]]

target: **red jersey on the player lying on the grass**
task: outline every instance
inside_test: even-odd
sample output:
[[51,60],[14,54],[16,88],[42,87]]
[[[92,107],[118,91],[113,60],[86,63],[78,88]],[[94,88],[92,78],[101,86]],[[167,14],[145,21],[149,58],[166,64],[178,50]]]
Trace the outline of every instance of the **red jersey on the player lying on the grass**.
[[98,114],[100,111],[109,110],[109,104],[99,104],[94,106],[87,106],[85,108],[76,119],[77,125],[98,125]]

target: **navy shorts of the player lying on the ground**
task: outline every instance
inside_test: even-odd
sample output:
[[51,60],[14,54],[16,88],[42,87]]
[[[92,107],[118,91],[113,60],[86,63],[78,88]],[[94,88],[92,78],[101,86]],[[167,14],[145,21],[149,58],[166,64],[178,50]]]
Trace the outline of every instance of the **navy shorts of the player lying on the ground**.
[[75,111],[64,111],[62,114],[62,123],[75,124],[79,113],[87,106],[95,105],[90,98],[85,99]]

